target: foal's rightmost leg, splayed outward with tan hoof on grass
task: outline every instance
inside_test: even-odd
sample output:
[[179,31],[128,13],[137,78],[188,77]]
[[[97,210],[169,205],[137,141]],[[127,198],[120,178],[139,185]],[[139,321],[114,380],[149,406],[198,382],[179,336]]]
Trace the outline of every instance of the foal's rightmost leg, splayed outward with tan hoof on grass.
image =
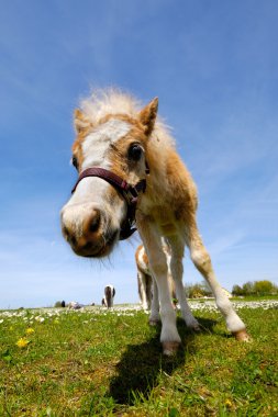
[[203,246],[194,218],[191,219],[191,223],[186,230],[186,236],[191,259],[196,268],[200,271],[210,285],[215,297],[216,306],[224,316],[229,330],[237,340],[248,340],[249,337],[246,333],[245,324],[235,313],[232,303],[215,278],[210,256]]

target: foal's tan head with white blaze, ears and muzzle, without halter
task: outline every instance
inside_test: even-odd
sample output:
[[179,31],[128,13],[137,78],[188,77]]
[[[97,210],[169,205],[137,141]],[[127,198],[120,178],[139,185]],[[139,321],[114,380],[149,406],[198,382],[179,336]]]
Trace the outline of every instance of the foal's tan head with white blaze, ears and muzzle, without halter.
[[[132,115],[102,114],[97,122],[76,110],[73,165],[79,174],[88,168],[100,167],[131,185],[146,178],[145,151],[155,124],[157,103],[154,99]],[[125,199],[103,178],[82,178],[62,210],[63,235],[77,255],[107,256],[119,240],[126,212]]]

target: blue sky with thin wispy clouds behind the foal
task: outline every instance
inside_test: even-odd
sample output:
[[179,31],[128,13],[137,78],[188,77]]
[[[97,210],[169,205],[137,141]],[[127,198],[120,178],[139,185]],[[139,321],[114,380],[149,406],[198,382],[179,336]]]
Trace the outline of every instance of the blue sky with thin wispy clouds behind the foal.
[[[173,127],[199,188],[199,227],[223,286],[278,283],[278,3],[11,1],[0,14],[0,308],[136,302],[134,251],[76,257],[59,210],[73,111],[93,87],[119,86]],[[188,253],[187,253],[188,255]],[[201,281],[185,260],[185,282]]]

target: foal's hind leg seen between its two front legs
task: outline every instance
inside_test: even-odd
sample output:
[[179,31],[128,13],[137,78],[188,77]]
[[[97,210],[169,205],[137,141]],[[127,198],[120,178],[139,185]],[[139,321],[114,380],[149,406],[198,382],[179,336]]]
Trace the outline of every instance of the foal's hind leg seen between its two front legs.
[[191,309],[187,302],[185,288],[182,284],[182,258],[185,245],[178,236],[171,236],[167,238],[167,241],[171,249],[170,271],[176,285],[176,295],[180,304],[181,317],[186,322],[187,327],[191,328],[194,331],[199,331],[199,323],[191,313]]

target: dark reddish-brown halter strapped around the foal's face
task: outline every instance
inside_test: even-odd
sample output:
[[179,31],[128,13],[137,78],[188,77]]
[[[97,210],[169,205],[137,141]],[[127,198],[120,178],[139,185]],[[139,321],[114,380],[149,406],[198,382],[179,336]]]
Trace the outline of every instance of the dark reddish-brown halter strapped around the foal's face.
[[137,199],[138,193],[145,192],[146,190],[146,180],[141,180],[135,185],[131,185],[121,177],[104,168],[87,168],[80,173],[75,187],[71,190],[71,194],[76,191],[76,188],[79,184],[79,182],[87,177],[98,177],[109,182],[125,200],[127,211],[125,221],[123,222],[121,227],[120,240],[127,239],[127,237],[130,237],[134,232],[136,232],[136,227],[134,225]]

